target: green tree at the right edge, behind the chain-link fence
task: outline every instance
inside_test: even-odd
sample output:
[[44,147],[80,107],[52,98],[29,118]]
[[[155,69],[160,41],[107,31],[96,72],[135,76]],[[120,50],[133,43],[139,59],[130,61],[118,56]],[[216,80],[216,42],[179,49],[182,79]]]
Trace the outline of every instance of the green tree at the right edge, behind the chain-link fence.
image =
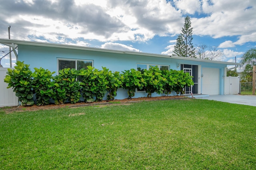
[[252,66],[256,65],[256,47],[249,49],[242,55],[240,63],[244,64],[242,67],[242,78],[246,82],[252,82]]

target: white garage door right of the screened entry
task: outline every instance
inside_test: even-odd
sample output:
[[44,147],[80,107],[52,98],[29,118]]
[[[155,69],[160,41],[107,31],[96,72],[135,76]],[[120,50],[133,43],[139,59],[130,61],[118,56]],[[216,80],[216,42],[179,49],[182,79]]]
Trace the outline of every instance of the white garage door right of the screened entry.
[[220,94],[220,69],[203,68],[202,94]]

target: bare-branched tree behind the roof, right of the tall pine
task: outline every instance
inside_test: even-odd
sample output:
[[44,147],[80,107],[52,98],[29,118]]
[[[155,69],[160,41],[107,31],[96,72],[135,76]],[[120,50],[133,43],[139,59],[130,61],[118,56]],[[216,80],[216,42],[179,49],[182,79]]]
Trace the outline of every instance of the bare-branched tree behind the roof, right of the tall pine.
[[196,58],[205,60],[214,60],[222,56],[222,52],[217,50],[216,46],[208,46],[203,43],[196,45]]

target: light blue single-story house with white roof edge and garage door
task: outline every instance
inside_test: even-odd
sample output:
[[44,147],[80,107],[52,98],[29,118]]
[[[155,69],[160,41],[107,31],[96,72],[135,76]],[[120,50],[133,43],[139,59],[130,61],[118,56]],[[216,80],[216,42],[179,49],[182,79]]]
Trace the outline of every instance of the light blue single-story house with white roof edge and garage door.
[[[33,68],[42,67],[51,72],[55,71],[58,74],[58,70],[63,68],[76,68],[79,70],[87,65],[99,70],[103,66],[111,71],[118,71],[120,73],[131,68],[137,70],[148,69],[149,66],[158,66],[160,70],[184,70],[184,72],[189,72],[193,76],[194,81],[194,86],[186,88],[186,94],[223,95],[227,65],[240,65],[240,63],[210,61],[172,55],[34,41],[0,39],[0,43],[12,47],[14,51],[15,48],[18,49],[18,53],[15,51],[17,61],[24,61],[25,64],[30,64],[32,72],[34,71]],[[173,92],[171,95],[176,95],[176,93]],[[146,96],[146,92],[136,91],[134,98]],[[159,95],[153,94],[152,96]],[[123,88],[118,89],[116,99],[127,97],[127,90]]]

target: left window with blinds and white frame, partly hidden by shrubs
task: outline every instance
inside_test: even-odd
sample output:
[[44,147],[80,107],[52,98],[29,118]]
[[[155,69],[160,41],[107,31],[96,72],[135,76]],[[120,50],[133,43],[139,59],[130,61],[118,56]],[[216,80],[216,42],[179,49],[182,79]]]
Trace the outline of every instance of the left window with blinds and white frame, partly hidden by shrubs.
[[[58,71],[64,68],[75,68],[76,70],[81,70],[82,68],[87,68],[87,66],[92,66],[92,60],[77,60],[77,59],[57,59],[58,60]],[[78,76],[78,80],[80,80]]]

